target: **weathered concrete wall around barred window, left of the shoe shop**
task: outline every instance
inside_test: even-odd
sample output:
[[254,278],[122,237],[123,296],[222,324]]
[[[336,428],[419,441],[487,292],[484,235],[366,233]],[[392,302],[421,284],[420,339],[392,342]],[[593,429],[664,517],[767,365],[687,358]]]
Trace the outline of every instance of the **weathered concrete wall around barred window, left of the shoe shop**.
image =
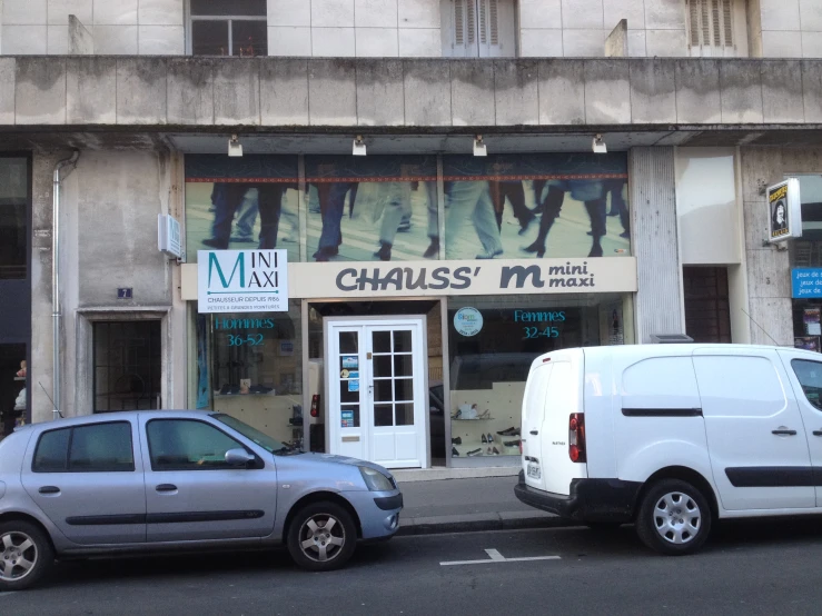
[[[51,395],[51,172],[67,152],[33,165],[32,375]],[[184,406],[185,306],[175,306],[177,265],[157,249],[157,215],[174,211],[170,157],[155,151],[85,150],[62,182],[60,241],[63,415],[91,410],[90,336],[96,320],[156,318],[164,331],[164,399]],[[177,213],[179,216],[179,213]],[[118,299],[130,287],[132,299]],[[172,366],[184,370],[172,378]],[[175,393],[174,384],[179,391]],[[32,419],[51,419],[51,403],[32,387]]]

